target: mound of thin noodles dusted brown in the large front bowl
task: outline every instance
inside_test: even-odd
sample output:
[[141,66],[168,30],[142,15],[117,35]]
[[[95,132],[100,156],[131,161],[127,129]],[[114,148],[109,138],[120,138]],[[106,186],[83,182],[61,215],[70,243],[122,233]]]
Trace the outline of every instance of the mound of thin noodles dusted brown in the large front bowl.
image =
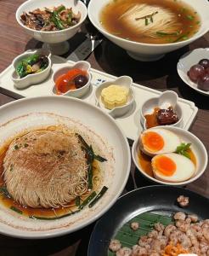
[[3,160],[8,193],[23,206],[65,207],[88,190],[88,166],[75,132],[30,131]]

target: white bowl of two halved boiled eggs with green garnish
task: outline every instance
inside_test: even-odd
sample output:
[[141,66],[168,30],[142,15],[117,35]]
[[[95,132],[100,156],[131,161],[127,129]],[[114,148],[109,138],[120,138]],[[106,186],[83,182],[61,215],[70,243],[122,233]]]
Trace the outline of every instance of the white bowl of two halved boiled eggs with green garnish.
[[133,161],[155,183],[185,185],[206,170],[206,148],[194,134],[174,126],[143,131],[133,143]]

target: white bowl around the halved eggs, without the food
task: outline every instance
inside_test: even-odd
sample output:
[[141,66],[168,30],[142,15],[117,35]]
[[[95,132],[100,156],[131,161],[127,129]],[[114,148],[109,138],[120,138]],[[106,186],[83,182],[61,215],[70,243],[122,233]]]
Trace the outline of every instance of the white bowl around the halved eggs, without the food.
[[184,143],[191,143],[191,149],[192,152],[195,154],[195,159],[196,159],[196,171],[195,175],[193,177],[190,177],[188,180],[184,182],[179,182],[179,183],[169,183],[169,182],[164,182],[161,180],[157,180],[155,177],[150,177],[147,173],[145,173],[140,164],[138,163],[138,152],[139,152],[139,138],[137,138],[134,143],[133,143],[133,148],[132,148],[132,157],[135,166],[137,166],[138,171],[141,172],[144,177],[147,177],[154,183],[161,183],[164,185],[172,185],[172,186],[184,186],[188,183],[193,183],[196,179],[201,177],[201,175],[205,172],[207,162],[208,162],[208,155],[206,152],[206,148],[203,143],[199,140],[198,137],[195,137],[194,134],[192,134],[189,131],[184,131],[181,128],[174,127],[174,126],[157,126],[151,129],[157,129],[161,127],[162,129],[166,129],[168,131],[174,132],[178,137],[181,139],[182,142]]

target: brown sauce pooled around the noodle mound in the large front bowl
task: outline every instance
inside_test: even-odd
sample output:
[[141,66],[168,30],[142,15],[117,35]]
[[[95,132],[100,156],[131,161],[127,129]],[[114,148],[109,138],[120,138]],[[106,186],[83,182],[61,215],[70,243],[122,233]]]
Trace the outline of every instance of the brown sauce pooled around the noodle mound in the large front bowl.
[[[6,184],[3,181],[3,159],[8,150],[9,144],[10,142],[0,149],[0,188],[6,188]],[[96,175],[97,176],[99,175],[99,163],[94,160],[93,176],[96,176]],[[81,203],[88,197],[88,195],[92,193],[93,189],[91,191],[88,191],[85,195],[82,195]],[[59,217],[59,216],[68,214],[70,212],[75,212],[77,210],[75,200],[71,201],[68,204],[68,207],[59,207],[56,209],[31,208],[31,207],[21,206],[17,201],[14,201],[10,196],[6,196],[2,191],[0,192],[0,203],[3,204],[5,207],[14,209],[14,212],[18,212],[20,210],[21,214],[28,217],[30,216],[38,216],[38,217],[44,217],[44,218]]]

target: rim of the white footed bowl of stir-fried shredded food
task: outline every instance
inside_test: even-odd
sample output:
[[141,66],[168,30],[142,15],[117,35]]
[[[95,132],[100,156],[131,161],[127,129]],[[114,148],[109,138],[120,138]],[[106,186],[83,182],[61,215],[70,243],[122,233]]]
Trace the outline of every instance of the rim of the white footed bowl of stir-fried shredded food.
[[[84,13],[82,19],[79,20],[79,22],[78,22],[76,25],[71,26],[71,27],[68,27],[68,28],[65,28],[65,29],[63,29],[63,30],[58,30],[58,31],[40,31],[40,30],[32,29],[32,28],[27,27],[27,26],[25,26],[24,24],[22,24],[22,22],[20,21],[20,16],[18,15],[20,9],[21,9],[23,6],[25,6],[25,5],[27,5],[28,3],[30,3],[31,1],[33,1],[33,0],[28,0],[28,1],[25,1],[24,3],[22,3],[22,4],[19,6],[19,8],[16,10],[16,13],[15,13],[15,17],[16,17],[16,20],[17,20],[17,22],[19,23],[19,25],[22,26],[22,27],[24,27],[24,28],[27,29],[27,30],[30,30],[31,32],[39,32],[39,33],[44,33],[44,34],[51,34],[51,33],[59,33],[59,32],[70,31],[70,30],[73,29],[73,28],[76,28],[76,27],[78,27],[78,26],[81,26],[82,23],[84,22],[84,20],[86,20],[86,19],[87,19],[87,16],[88,16],[88,9],[87,9],[86,5],[85,5],[84,3],[82,3],[82,1],[79,0],[77,3],[79,3],[79,4],[82,5],[82,7],[85,9],[85,13]],[[34,1],[34,2],[35,2],[35,1]]]

